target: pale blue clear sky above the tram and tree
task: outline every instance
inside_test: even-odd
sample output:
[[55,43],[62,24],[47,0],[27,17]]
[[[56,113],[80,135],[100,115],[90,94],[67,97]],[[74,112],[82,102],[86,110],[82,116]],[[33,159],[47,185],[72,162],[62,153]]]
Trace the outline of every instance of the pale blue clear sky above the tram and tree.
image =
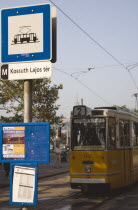
[[[57,62],[53,64],[51,79],[53,84],[62,83],[64,87],[60,91],[58,114],[69,117],[81,98],[92,108],[114,104],[135,108],[132,95],[138,93],[138,67],[130,70],[131,75],[125,67],[138,63],[138,1],[52,1],[83,29],[82,32],[57,11]],[[50,1],[0,0],[0,7],[43,3]],[[88,68],[93,69],[88,71]]]

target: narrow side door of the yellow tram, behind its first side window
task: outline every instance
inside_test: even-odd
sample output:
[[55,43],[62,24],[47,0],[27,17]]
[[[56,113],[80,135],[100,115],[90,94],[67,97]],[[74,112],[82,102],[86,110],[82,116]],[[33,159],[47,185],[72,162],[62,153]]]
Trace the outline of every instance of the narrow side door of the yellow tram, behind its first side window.
[[122,147],[122,184],[131,183],[131,150],[130,150],[130,122],[120,120],[119,122],[120,146]]

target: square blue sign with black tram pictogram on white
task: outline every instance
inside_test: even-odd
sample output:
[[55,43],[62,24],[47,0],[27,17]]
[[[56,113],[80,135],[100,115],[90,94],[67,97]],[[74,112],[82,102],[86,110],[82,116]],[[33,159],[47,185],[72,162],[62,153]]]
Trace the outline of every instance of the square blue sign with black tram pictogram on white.
[[51,5],[1,11],[3,63],[50,60],[52,55]]

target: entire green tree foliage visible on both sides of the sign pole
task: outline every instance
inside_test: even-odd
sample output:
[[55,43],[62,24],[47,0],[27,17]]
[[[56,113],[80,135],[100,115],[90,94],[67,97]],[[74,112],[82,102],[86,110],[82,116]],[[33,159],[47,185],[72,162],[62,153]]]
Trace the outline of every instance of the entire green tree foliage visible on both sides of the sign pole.
[[[56,104],[59,90],[63,86],[53,85],[46,79],[33,80],[32,87],[32,118],[37,122],[60,123],[63,116],[57,116],[59,105]],[[0,110],[2,122],[23,122],[23,81],[0,80]]]

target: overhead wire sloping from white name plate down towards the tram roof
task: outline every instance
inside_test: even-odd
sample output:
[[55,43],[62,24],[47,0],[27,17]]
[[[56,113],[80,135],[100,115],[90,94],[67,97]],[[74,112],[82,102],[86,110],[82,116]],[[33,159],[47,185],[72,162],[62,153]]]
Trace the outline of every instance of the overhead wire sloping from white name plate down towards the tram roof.
[[102,98],[102,97],[99,96],[97,93],[95,93],[92,89],[90,89],[87,85],[85,85],[85,84],[84,84],[81,80],[79,80],[77,77],[74,77],[73,75],[68,74],[67,72],[65,72],[65,71],[63,71],[63,70],[60,70],[60,69],[58,69],[58,68],[55,68],[55,67],[53,67],[53,68],[54,68],[55,70],[57,70],[57,71],[60,71],[60,72],[62,72],[62,73],[64,73],[64,74],[66,74],[67,76],[70,76],[70,77],[72,77],[73,79],[77,80],[82,86],[84,86],[84,87],[87,88],[91,93],[93,93],[95,96],[97,96],[98,98],[100,98],[104,103],[106,103],[106,104],[112,106],[109,102],[107,102],[104,98]]

